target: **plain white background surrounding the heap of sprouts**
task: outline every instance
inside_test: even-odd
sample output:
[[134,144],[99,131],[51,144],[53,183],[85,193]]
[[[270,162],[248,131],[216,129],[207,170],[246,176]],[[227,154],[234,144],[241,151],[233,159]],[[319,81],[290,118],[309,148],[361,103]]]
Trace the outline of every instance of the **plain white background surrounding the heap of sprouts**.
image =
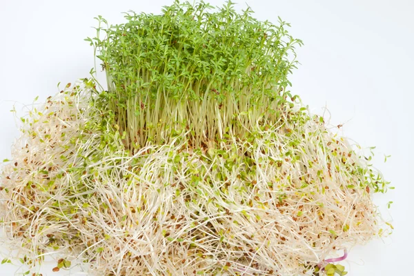
[[[221,5],[224,1],[213,1]],[[33,1],[0,0],[0,159],[10,157],[19,135],[9,112],[14,103],[46,99],[66,84],[88,77],[92,48],[84,38],[95,32],[93,17],[121,23],[121,12],[159,13],[168,1]],[[348,275],[414,275],[414,2],[411,0],[247,0],[255,17],[292,23],[290,33],[305,43],[297,50],[302,63],[291,81],[293,92],[314,112],[326,106],[332,124],[362,146],[377,146],[375,165],[395,190],[375,195],[375,203],[391,220],[390,239],[351,249]],[[246,8],[240,1],[238,9]],[[384,153],[392,155],[384,161]],[[386,202],[394,201],[390,210]],[[43,275],[52,273],[46,266]],[[14,275],[3,265],[0,275]],[[71,275],[81,275],[72,273]]]

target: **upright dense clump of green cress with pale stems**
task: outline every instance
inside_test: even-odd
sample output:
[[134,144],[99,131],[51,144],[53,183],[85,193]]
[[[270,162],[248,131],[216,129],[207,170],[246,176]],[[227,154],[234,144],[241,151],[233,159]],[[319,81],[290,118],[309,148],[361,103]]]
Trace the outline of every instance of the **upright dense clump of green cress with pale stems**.
[[[161,128],[177,123],[196,137],[214,139],[219,126],[210,121],[233,128],[231,115],[249,109],[258,110],[257,116],[272,114],[290,96],[284,88],[296,68],[295,45],[302,41],[288,34],[289,24],[280,18],[279,26],[258,21],[250,8],[238,14],[231,1],[212,8],[204,1],[175,1],[160,15],[128,12],[120,25],[97,18],[97,37],[86,40],[103,61],[106,97],[120,127],[131,128],[132,136],[141,130],[137,144],[159,141]],[[160,120],[165,124],[157,130]]]

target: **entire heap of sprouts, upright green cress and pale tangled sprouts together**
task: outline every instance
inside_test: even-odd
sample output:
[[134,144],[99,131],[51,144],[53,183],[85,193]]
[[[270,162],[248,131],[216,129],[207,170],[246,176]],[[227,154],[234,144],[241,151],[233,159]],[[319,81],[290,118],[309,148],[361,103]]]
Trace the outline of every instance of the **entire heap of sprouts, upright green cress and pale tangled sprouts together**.
[[[346,275],[391,232],[368,150],[290,95],[293,39],[230,1],[97,17],[108,89],[81,79],[21,118],[0,175],[3,263],[23,275]],[[342,255],[334,257],[332,255]]]

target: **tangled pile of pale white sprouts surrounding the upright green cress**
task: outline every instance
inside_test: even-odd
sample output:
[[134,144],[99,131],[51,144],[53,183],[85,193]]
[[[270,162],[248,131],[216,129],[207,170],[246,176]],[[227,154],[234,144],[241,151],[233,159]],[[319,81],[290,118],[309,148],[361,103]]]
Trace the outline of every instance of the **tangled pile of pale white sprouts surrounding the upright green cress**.
[[[3,239],[39,271],[309,275],[378,235],[386,182],[321,117],[286,108],[246,137],[193,148],[186,133],[132,154],[90,83],[30,112],[1,172]],[[24,256],[24,257],[23,257]]]

